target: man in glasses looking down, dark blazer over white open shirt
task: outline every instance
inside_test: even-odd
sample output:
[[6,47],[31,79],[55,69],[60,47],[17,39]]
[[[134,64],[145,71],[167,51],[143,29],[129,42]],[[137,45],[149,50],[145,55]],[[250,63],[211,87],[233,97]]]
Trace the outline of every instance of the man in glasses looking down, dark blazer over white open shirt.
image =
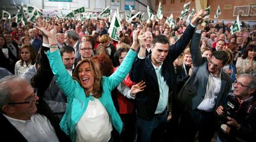
[[193,72],[178,95],[184,106],[181,123],[181,141],[211,141],[215,132],[215,109],[231,90],[232,79],[222,71],[228,61],[226,51],[215,51],[208,61],[200,52],[201,30],[192,38],[190,52]]

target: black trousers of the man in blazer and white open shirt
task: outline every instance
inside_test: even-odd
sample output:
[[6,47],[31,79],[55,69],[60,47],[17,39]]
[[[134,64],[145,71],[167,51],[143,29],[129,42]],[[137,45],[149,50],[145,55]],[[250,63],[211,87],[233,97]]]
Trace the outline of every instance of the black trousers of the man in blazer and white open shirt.
[[179,140],[194,142],[198,132],[198,141],[211,141],[215,133],[215,113],[184,109],[179,125]]

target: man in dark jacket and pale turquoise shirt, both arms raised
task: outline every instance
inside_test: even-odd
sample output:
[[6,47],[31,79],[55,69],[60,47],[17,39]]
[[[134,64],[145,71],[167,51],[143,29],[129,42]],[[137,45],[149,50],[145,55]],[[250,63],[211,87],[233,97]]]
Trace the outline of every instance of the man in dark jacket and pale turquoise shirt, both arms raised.
[[195,26],[203,15],[203,10],[198,12],[181,39],[172,46],[169,46],[166,36],[156,36],[150,56],[145,56],[145,35],[139,37],[140,51],[130,73],[132,81],[143,80],[147,85],[135,98],[138,141],[163,141],[163,125],[168,116],[168,98],[173,98],[172,94],[176,93],[177,88],[173,62],[186,48]]

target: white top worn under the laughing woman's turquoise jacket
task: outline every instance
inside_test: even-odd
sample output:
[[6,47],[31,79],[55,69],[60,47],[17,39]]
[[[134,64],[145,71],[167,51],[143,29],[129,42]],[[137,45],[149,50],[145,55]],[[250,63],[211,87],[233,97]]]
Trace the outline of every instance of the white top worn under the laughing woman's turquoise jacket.
[[75,127],[76,141],[104,142],[111,138],[112,124],[109,114],[101,102],[90,96],[85,114]]

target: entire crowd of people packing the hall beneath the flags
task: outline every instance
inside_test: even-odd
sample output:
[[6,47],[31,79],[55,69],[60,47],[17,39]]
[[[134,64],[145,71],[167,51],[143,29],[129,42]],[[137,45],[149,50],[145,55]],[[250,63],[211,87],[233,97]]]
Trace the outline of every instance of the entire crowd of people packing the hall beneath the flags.
[[3,137],[254,141],[256,25],[231,35],[205,15],[174,28],[123,19],[119,41],[108,18],[1,20]]

